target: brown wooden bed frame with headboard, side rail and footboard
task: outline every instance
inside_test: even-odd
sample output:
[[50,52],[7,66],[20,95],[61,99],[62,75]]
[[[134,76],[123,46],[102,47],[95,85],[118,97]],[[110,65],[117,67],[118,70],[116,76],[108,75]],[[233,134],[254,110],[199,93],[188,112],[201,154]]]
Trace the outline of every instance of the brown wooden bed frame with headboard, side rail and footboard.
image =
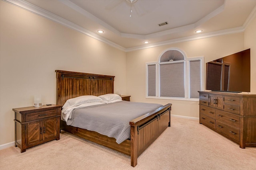
[[[83,95],[100,96],[114,93],[114,77],[100,74],[70,72],[55,70],[57,78],[57,104],[63,106],[66,100]],[[116,139],[88,131],[78,127],[66,125],[60,121],[60,129],[98,143],[110,149],[117,150],[131,156],[131,166],[137,165],[138,156],[153,143],[169,126],[172,104],[166,104],[150,113],[146,113],[130,121],[131,138],[120,144]]]

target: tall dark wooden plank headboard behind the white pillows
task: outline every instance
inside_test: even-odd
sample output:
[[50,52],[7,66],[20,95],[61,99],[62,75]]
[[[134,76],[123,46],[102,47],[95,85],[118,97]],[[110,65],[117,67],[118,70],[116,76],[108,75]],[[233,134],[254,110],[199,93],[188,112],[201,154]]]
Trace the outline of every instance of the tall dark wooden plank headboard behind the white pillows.
[[55,70],[56,100],[61,106],[70,98],[78,96],[114,93],[114,77],[100,74]]

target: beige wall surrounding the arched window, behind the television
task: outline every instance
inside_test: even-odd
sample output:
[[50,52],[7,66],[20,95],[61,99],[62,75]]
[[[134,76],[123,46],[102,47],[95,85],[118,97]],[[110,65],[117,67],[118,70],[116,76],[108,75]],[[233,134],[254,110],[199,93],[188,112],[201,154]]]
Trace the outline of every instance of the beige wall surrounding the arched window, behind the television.
[[[250,37],[251,32],[248,31],[250,43],[246,48],[255,48],[255,24],[250,29],[254,32],[254,37]],[[248,40],[249,41],[249,40]],[[244,33],[236,33],[230,35],[222,35],[217,37],[186,41],[154,47],[150,49],[142,49],[127,53],[126,58],[126,82],[127,94],[131,95],[131,100],[135,102],[149,102],[167,104],[172,103],[172,114],[188,117],[199,117],[199,102],[181,101],[181,100],[159,100],[148,99],[146,96],[146,62],[156,62],[160,54],[171,47],[177,47],[184,51],[187,57],[204,56],[204,63],[218,59],[233,53],[244,50]],[[255,49],[256,50],[256,49]],[[255,65],[255,50],[252,50],[251,64]],[[205,64],[204,64],[205,67]],[[252,68],[251,74],[251,92],[256,92],[256,76],[255,68]]]

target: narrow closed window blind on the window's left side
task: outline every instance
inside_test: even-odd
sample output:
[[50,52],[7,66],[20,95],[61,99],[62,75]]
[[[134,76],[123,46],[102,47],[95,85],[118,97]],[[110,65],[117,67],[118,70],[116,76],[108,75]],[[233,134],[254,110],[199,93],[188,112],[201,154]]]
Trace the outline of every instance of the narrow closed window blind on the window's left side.
[[156,64],[148,65],[148,96],[156,96]]

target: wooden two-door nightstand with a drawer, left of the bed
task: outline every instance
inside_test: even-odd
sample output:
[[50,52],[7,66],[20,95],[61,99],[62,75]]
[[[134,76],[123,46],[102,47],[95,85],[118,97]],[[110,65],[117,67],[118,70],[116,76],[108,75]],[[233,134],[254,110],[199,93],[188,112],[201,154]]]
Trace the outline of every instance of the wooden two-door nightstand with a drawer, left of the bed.
[[15,147],[20,152],[36,145],[60,139],[60,105],[21,107],[15,112]]

